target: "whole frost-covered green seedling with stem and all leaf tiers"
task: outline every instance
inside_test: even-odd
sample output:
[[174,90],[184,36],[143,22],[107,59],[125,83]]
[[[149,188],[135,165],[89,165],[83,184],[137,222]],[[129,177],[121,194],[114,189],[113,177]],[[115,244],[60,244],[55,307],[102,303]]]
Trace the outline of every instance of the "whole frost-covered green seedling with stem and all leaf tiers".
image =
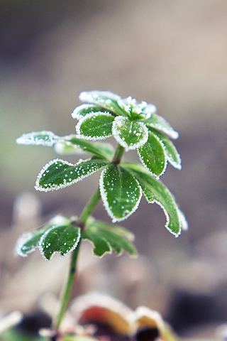
[[[54,326],[59,328],[72,290],[77,254],[82,239],[92,242],[96,256],[116,251],[137,254],[133,236],[123,227],[95,220],[91,217],[100,198],[113,222],[125,220],[135,212],[142,195],[148,202],[156,202],[165,212],[166,227],[177,237],[187,228],[184,214],[175,197],[159,180],[167,161],[177,169],[181,159],[171,139],[178,133],[156,113],[156,107],[138,103],[132,97],[122,99],[105,91],[82,92],[84,102],[72,112],[77,119],[76,134],[57,136],[51,131],[23,134],[18,144],[53,146],[59,154],[85,154],[85,158],[69,163],[60,158],[47,163],[38,174],[35,189],[48,192],[58,190],[101,171],[99,187],[79,217],[57,216],[40,229],[27,232],[18,239],[16,251],[27,256],[40,249],[50,261],[55,253],[65,256],[72,252],[70,275],[62,296],[60,313]],[[116,147],[104,140],[113,136]],[[123,153],[137,149],[140,163],[127,163]],[[88,156],[89,155],[89,156]]]

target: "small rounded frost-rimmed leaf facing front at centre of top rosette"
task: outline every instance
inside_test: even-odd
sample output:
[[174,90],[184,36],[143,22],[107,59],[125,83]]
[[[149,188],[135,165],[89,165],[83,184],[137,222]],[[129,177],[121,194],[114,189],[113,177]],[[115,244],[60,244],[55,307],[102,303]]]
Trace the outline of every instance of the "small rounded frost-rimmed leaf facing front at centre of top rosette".
[[148,141],[148,128],[143,122],[130,121],[128,117],[116,117],[113,123],[113,135],[121,146],[135,149]]

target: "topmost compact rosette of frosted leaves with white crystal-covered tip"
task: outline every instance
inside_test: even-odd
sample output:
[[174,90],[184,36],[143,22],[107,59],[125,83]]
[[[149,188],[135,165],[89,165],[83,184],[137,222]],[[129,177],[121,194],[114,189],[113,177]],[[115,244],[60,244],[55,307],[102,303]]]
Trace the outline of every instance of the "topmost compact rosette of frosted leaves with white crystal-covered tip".
[[132,97],[121,99],[106,91],[89,91],[79,94],[82,104],[72,112],[78,119],[77,137],[86,140],[103,140],[114,136],[126,151],[137,149],[143,166],[156,178],[165,172],[167,161],[181,168],[179,153],[171,139],[178,133],[156,114],[156,107],[146,102],[138,103]]

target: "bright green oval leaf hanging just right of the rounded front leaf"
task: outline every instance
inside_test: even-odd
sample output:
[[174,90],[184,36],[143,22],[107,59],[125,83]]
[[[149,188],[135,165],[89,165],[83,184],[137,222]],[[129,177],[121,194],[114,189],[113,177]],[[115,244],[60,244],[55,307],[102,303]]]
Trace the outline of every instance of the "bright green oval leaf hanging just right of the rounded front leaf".
[[143,166],[156,178],[165,173],[167,159],[160,139],[149,131],[148,141],[138,148],[138,156]]

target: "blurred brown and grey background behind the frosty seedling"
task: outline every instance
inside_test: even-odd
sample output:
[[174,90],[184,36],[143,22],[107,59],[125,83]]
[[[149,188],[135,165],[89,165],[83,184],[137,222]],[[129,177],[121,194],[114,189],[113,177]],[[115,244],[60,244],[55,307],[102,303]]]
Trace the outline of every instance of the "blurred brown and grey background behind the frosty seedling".
[[[0,72],[0,314],[31,314],[44,293],[59,294],[68,259],[19,259],[16,239],[57,213],[78,215],[99,179],[36,193],[36,175],[56,155],[15,140],[74,134],[79,92],[109,90],[155,104],[179,131],[182,171],[169,165],[162,181],[189,231],[173,237],[161,208],[143,199],[122,224],[140,257],[99,261],[84,243],[74,296],[104,291],[159,310],[179,335],[214,335],[227,322],[226,0],[1,0]],[[110,222],[101,204],[94,215]]]

